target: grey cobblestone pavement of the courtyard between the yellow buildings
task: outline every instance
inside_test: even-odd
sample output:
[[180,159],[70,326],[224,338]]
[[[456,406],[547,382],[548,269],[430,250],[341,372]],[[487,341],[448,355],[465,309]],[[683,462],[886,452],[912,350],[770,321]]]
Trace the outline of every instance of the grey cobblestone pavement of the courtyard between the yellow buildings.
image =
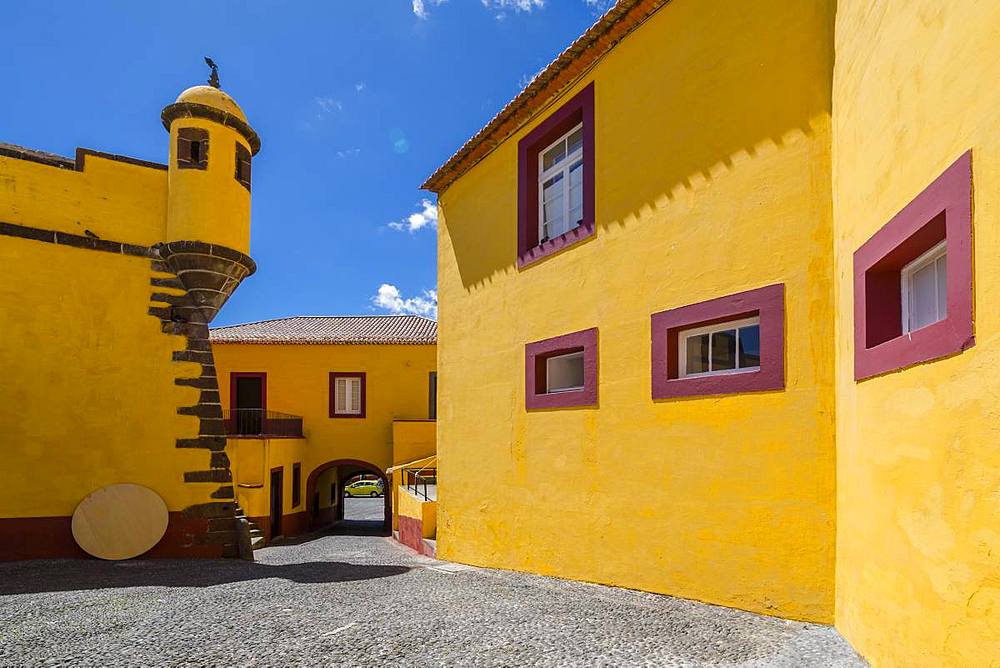
[[459,567],[377,535],[257,556],[0,564],[0,665],[864,665],[829,627]]

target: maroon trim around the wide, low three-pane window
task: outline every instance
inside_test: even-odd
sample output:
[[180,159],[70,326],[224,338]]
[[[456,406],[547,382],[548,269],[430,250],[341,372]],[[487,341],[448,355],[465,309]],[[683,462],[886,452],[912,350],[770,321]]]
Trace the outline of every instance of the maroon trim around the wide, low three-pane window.
[[[759,316],[760,368],[677,378],[677,334],[686,329]],[[782,283],[689,304],[650,316],[653,399],[785,389],[785,286]],[[674,377],[671,377],[671,376]]]

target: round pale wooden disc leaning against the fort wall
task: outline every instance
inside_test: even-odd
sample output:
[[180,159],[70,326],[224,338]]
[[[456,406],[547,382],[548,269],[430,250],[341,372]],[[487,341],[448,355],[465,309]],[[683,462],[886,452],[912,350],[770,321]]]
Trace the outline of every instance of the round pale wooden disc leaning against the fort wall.
[[131,559],[160,542],[167,517],[167,504],[148,487],[108,485],[73,511],[73,538],[99,559]]

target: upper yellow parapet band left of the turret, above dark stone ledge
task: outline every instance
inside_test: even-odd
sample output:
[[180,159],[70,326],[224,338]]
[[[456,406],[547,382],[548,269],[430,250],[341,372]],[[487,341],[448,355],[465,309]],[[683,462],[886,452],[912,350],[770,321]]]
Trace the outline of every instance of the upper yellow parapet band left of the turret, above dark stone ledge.
[[0,157],[5,223],[151,246],[166,240],[166,220],[166,170],[95,155],[82,172]]

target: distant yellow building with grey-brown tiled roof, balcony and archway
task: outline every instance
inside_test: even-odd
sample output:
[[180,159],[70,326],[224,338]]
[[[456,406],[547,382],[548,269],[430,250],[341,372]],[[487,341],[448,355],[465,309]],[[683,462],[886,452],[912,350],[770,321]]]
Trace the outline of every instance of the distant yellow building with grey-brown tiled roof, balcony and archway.
[[436,336],[433,320],[410,315],[212,330],[226,454],[257,543],[343,519],[344,485],[359,474],[382,481],[389,528],[387,469],[433,453]]

